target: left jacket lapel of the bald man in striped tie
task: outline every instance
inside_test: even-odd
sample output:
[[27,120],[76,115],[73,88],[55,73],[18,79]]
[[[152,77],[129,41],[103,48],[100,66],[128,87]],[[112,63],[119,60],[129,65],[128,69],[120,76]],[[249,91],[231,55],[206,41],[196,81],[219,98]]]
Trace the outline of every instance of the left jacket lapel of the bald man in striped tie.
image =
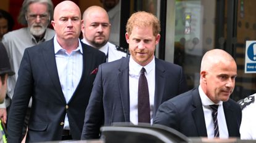
[[198,88],[192,91],[192,99],[192,106],[194,106],[194,110],[192,110],[192,117],[194,118],[194,122],[197,127],[198,136],[207,136],[204,111],[202,109],[202,101],[199,96]]

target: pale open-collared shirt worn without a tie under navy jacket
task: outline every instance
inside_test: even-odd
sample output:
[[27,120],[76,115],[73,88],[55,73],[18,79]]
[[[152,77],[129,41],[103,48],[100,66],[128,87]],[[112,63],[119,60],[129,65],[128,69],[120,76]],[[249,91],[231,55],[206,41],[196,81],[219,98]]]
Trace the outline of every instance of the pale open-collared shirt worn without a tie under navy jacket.
[[[57,70],[62,92],[67,103],[72,98],[83,71],[83,50],[79,40],[78,43],[78,47],[68,54],[65,49],[60,47],[56,36],[54,36]],[[67,114],[65,116],[64,129],[70,129]]]

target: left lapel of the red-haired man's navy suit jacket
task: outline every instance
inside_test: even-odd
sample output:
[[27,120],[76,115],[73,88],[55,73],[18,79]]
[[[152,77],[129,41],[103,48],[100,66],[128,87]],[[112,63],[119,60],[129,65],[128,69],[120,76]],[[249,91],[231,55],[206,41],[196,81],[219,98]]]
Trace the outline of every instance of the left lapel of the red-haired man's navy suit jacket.
[[123,106],[125,122],[130,122],[130,96],[129,96],[129,57],[122,58],[118,69],[118,85]]

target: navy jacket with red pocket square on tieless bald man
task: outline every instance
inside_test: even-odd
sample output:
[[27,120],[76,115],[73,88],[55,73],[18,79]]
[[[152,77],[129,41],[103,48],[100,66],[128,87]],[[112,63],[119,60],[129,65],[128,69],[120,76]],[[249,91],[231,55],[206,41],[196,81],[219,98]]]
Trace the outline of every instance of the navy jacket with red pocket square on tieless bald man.
[[43,42],[24,52],[8,119],[8,142],[20,142],[28,102],[32,96],[27,142],[62,139],[64,118],[68,115],[73,139],[80,139],[93,81],[91,73],[105,62],[105,54],[81,42],[83,72],[69,102],[65,101],[57,72],[54,43]]

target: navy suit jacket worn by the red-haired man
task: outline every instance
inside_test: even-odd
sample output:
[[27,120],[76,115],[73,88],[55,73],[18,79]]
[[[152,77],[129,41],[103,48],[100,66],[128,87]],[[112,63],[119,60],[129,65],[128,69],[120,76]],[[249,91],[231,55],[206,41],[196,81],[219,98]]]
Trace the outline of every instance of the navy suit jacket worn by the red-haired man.
[[[114,122],[130,122],[129,57],[101,64],[86,109],[81,139],[99,137],[99,128]],[[155,101],[153,118],[163,101],[187,91],[183,70],[155,58]]]

